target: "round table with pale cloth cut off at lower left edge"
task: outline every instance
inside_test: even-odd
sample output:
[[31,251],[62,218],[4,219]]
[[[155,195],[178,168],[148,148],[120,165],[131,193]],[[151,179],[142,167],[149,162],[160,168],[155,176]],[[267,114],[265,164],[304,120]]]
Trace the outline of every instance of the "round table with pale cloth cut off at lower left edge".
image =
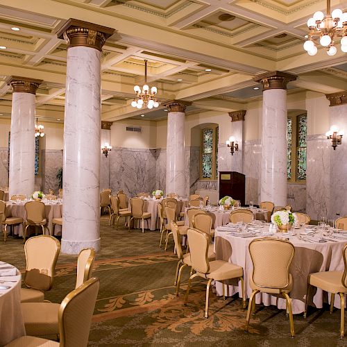
[[0,262],[0,346],[26,335],[20,305],[21,282],[15,266]]

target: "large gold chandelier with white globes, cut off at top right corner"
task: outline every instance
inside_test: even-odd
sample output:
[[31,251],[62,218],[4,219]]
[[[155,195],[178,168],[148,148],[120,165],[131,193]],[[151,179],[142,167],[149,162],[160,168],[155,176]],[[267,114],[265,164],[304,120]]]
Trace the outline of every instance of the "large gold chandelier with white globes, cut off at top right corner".
[[335,40],[337,37],[342,37],[341,51],[347,52],[347,12],[342,12],[339,8],[330,12],[330,0],[327,0],[326,7],[325,16],[323,12],[317,11],[307,21],[310,32],[305,36],[307,40],[304,49],[310,56],[315,56],[317,53],[315,42],[318,39],[321,46],[327,50],[328,56],[335,56],[337,53]]

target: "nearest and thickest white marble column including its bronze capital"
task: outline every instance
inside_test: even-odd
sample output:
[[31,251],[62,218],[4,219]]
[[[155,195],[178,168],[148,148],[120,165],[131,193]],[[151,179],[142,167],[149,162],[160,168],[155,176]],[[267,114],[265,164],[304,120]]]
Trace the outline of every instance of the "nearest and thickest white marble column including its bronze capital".
[[115,30],[69,19],[67,42],[62,253],[100,248],[101,49]]

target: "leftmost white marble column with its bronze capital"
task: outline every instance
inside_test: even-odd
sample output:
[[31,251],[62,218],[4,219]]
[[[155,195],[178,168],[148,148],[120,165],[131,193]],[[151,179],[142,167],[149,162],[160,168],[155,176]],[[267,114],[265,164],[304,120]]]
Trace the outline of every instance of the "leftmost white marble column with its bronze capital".
[[13,88],[9,195],[31,196],[35,187],[35,94],[41,80],[11,76]]

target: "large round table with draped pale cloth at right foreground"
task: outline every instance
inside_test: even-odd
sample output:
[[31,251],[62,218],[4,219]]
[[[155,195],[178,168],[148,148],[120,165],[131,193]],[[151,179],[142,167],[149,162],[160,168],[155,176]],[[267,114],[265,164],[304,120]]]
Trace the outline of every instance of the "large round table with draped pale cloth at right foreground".
[[[293,289],[289,293],[292,299],[293,313],[299,314],[305,310],[305,296],[307,291],[307,276],[310,273],[320,271],[344,271],[344,260],[342,257],[342,249],[347,243],[347,234],[344,239],[332,239],[331,241],[320,243],[319,237],[312,238],[303,237],[301,239],[300,232],[298,236],[289,236],[289,241],[294,244],[295,255],[291,262],[290,273],[293,276]],[[225,260],[242,266],[244,269],[244,285],[246,289],[246,298],[249,298],[252,289],[249,286],[249,278],[253,271],[251,256],[248,251],[248,245],[256,237],[235,236],[237,234],[228,232],[225,227],[217,228],[214,235],[214,250],[217,260]],[[264,237],[257,236],[257,237]],[[284,237],[281,233],[271,235],[271,237]],[[285,236],[287,237],[287,236]],[[241,293],[241,284],[237,284],[235,280],[230,280],[227,284],[227,295],[232,296],[235,293]],[[221,295],[222,285],[217,282],[217,295]],[[240,295],[242,296],[242,295]],[[329,294],[330,300],[330,294]],[[255,296],[257,304],[276,305],[276,296],[270,294],[258,293]],[[316,290],[313,298],[314,305],[317,308],[323,307],[323,291]],[[339,296],[335,296],[335,307],[340,307]],[[278,308],[285,309],[285,299],[278,299]]]

